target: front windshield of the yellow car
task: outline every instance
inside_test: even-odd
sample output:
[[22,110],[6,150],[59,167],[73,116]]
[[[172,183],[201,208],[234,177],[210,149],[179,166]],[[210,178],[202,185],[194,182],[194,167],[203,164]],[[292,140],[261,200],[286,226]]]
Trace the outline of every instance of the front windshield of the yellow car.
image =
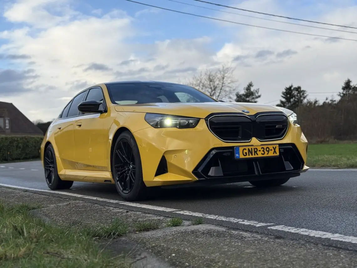
[[201,91],[181,84],[127,82],[106,86],[114,104],[217,102]]

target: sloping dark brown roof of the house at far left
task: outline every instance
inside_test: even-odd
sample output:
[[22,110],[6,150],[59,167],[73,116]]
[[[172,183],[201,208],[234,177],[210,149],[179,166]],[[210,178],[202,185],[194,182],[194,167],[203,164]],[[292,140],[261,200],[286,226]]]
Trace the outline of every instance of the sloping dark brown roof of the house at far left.
[[[5,113],[4,110],[6,110]],[[6,116],[10,118],[11,133],[43,135],[42,130],[37,128],[14,104],[0,101],[0,117],[3,117],[1,111],[4,115],[7,113]],[[0,129],[0,132],[2,131]]]

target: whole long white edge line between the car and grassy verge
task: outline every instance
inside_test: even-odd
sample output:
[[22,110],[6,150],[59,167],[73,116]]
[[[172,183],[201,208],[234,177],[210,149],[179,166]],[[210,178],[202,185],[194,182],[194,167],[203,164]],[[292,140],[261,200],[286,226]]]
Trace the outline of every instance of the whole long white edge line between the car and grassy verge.
[[[166,207],[158,207],[158,206],[154,206],[154,205],[125,202],[125,201],[119,201],[119,200],[114,200],[114,199],[92,197],[92,196],[88,196],[88,195],[81,195],[81,194],[68,193],[68,192],[60,192],[60,191],[44,190],[44,189],[34,189],[34,188],[21,187],[21,186],[15,186],[15,185],[8,185],[8,184],[1,184],[1,183],[0,183],[0,186],[9,187],[9,188],[15,188],[15,189],[23,189],[23,190],[34,190],[34,191],[37,191],[37,192],[47,192],[47,193],[56,193],[56,194],[62,194],[62,195],[71,195],[71,196],[74,196],[74,197],[81,197],[81,198],[87,198],[87,199],[93,199],[93,200],[102,200],[102,201],[107,201],[107,202],[110,202],[110,203],[119,203],[121,205],[128,205],[128,206],[131,206],[131,207],[147,208],[147,209],[159,210],[159,211],[165,211],[165,212],[173,212],[173,213],[191,215],[191,216],[202,217],[202,218],[207,218],[207,219],[215,219],[215,220],[222,220],[222,221],[226,221],[226,222],[233,222],[233,223],[252,225],[252,226],[255,226],[255,227],[261,227],[261,226],[274,225],[275,224],[275,223],[261,223],[261,222],[256,222],[255,220],[245,220],[245,219],[224,217],[224,216],[219,216],[219,215],[198,213],[198,212],[192,212],[192,211],[187,211],[187,210],[180,210],[180,209],[173,209],[173,208],[166,208]],[[301,235],[308,235],[308,236],[311,236],[311,237],[319,237],[319,238],[325,238],[325,239],[331,239],[331,240],[339,240],[339,241],[343,241],[343,242],[349,242],[349,243],[357,244],[357,237],[347,236],[347,235],[342,235],[342,234],[333,234],[333,233],[309,230],[309,229],[304,229],[304,228],[288,227],[288,226],[285,226],[285,225],[270,226],[270,227],[267,227],[267,229],[280,230],[280,231],[283,231],[283,232],[297,233],[297,234],[301,234]]]

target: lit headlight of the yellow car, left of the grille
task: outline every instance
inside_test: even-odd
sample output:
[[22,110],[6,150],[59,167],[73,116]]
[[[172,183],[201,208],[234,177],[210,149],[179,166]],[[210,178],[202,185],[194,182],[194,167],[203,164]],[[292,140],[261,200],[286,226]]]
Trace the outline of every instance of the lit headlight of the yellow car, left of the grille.
[[200,118],[147,113],[145,121],[154,128],[194,128],[197,126]]

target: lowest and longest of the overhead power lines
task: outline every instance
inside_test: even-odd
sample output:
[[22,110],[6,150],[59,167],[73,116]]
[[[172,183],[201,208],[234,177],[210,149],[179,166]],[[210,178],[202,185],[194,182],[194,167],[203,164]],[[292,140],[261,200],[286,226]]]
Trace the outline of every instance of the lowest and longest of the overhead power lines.
[[341,40],[348,40],[348,41],[355,41],[355,42],[357,42],[357,39],[349,39],[349,38],[342,38],[342,37],[337,37],[337,36],[319,35],[319,34],[309,34],[309,33],[302,33],[302,32],[297,32],[297,31],[289,31],[289,30],[276,29],[276,28],[269,28],[269,27],[258,26],[258,25],[252,25],[252,24],[246,24],[246,23],[238,23],[238,22],[236,22],[236,21],[217,19],[217,18],[212,18],[212,17],[202,16],[202,15],[197,15],[197,14],[193,14],[193,13],[178,11],[178,10],[174,10],[174,9],[162,8],[162,7],[160,7],[160,6],[154,6],[154,5],[144,4],[144,3],[140,3],[140,2],[137,2],[137,1],[133,1],[133,0],[125,0],[125,1],[132,2],[132,3],[136,3],[136,4],[140,4],[140,5],[144,5],[144,6],[151,6],[152,8],[163,9],[163,10],[172,11],[172,12],[176,12],[176,13],[180,13],[180,14],[186,14],[186,15],[196,16],[196,17],[199,17],[199,18],[205,18],[205,19],[211,19],[211,20],[217,20],[217,21],[224,21],[224,22],[228,22],[228,23],[234,23],[234,24],[245,25],[245,26],[251,26],[251,27],[256,27],[256,28],[268,29],[268,30],[282,31],[282,32],[286,32],[286,33],[303,34],[303,35],[318,36],[318,37],[341,39]]

